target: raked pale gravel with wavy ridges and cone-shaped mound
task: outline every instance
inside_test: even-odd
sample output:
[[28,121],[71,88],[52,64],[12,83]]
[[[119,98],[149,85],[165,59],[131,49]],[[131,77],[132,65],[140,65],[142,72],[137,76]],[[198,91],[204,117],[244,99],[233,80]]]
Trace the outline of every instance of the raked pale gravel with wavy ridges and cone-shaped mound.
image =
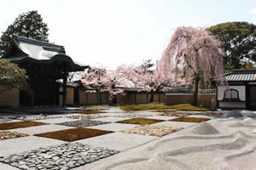
[[255,125],[246,117],[218,118],[75,170],[255,170]]

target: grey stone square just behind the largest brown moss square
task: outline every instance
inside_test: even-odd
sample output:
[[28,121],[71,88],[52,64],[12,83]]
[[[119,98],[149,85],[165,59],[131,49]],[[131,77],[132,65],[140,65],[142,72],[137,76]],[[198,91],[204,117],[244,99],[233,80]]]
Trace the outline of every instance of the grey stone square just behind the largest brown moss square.
[[64,125],[67,127],[92,127],[92,126],[108,124],[108,123],[111,123],[111,122],[91,121],[90,119],[84,119],[84,120],[73,121],[73,122],[61,122],[57,124]]

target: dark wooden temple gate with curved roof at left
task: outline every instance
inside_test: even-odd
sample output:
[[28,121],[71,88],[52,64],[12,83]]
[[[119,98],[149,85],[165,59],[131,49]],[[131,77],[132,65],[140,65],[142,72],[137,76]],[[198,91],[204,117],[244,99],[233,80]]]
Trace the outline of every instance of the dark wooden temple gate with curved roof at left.
[[[26,70],[30,89],[20,91],[20,105],[61,105],[67,101],[68,72],[84,71],[81,65],[67,56],[65,48],[49,42],[14,37],[3,59]],[[61,80],[62,91],[59,91]],[[60,98],[61,95],[61,98]]]

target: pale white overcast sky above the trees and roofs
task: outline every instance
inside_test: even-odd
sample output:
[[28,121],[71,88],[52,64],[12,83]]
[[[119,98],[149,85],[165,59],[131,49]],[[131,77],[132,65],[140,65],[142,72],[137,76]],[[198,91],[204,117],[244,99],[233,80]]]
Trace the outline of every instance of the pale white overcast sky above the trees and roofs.
[[48,25],[49,42],[79,63],[108,69],[159,60],[178,26],[256,24],[255,0],[8,0],[0,6],[0,35],[30,10]]

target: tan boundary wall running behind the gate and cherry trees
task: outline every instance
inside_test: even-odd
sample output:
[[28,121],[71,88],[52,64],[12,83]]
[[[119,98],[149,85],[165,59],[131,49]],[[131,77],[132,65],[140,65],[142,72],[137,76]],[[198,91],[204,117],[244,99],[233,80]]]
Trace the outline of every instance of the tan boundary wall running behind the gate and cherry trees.
[[[3,87],[0,87],[0,90]],[[60,91],[62,89],[60,88]],[[67,105],[74,105],[74,88],[67,88]],[[60,95],[60,105],[61,105]],[[117,104],[119,105],[140,105],[148,104],[150,94],[148,93],[136,93],[129,92],[125,95],[117,95]],[[204,107],[212,107],[212,99],[216,99],[216,94],[198,94],[198,104]],[[178,104],[191,104],[193,100],[193,94],[154,94],[154,102],[165,103],[166,105],[178,105]],[[79,105],[109,105],[112,101],[109,99],[108,93],[85,93],[83,89],[79,89]],[[20,91],[18,88],[9,89],[0,94],[0,108],[19,108],[20,107]]]

